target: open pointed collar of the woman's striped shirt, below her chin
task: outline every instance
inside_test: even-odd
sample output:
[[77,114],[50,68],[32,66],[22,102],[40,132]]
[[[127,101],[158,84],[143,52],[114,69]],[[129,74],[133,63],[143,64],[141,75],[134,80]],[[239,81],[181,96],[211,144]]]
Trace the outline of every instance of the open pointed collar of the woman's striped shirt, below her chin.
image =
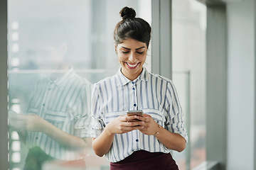
[[[116,77],[117,77],[117,81],[119,82],[119,84],[121,86],[124,86],[124,85],[128,84],[129,82],[132,82],[131,80],[127,79],[127,77],[125,77],[124,74],[122,74],[121,67],[118,70],[118,72],[116,74]],[[139,74],[139,77],[137,77],[137,79],[134,79],[134,82],[137,82],[137,81],[147,81],[148,77],[149,77],[149,72],[147,72],[146,68],[143,67],[142,73]]]

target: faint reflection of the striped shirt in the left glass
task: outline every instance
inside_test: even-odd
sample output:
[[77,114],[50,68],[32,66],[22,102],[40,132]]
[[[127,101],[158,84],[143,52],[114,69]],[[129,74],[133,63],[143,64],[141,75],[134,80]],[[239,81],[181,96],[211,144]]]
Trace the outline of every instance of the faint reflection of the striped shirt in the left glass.
[[[78,137],[90,136],[89,81],[70,69],[63,77],[44,79],[33,86],[28,113],[34,113],[60,130]],[[38,146],[51,157],[62,160],[78,159],[74,151],[61,147],[42,132],[28,132],[26,144]]]

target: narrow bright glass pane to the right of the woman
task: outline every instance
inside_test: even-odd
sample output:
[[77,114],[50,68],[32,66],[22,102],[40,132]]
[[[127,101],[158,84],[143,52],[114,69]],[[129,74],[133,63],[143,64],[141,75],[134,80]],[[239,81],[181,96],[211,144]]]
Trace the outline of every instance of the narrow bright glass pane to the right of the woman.
[[206,161],[206,6],[196,0],[172,1],[174,82],[185,109],[189,141],[181,169]]

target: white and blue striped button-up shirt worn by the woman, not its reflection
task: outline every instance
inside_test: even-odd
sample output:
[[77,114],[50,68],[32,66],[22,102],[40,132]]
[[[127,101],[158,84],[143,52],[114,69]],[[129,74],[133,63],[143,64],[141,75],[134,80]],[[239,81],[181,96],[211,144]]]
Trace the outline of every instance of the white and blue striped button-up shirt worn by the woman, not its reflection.
[[[98,137],[107,123],[126,114],[126,111],[142,110],[151,115],[159,125],[188,140],[174,84],[169,79],[146,72],[145,68],[134,81],[124,77],[119,70],[113,77],[95,84],[91,109],[92,137]],[[119,162],[139,149],[170,152],[153,135],[144,135],[139,130],[133,130],[122,135],[116,134],[106,155],[110,162]]]

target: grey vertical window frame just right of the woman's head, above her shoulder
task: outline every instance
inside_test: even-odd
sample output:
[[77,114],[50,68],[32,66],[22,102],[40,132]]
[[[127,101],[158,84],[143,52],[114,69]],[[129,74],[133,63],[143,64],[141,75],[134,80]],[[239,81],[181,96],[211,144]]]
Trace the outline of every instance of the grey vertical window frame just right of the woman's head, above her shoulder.
[[152,4],[152,72],[172,78],[171,0],[151,0]]

